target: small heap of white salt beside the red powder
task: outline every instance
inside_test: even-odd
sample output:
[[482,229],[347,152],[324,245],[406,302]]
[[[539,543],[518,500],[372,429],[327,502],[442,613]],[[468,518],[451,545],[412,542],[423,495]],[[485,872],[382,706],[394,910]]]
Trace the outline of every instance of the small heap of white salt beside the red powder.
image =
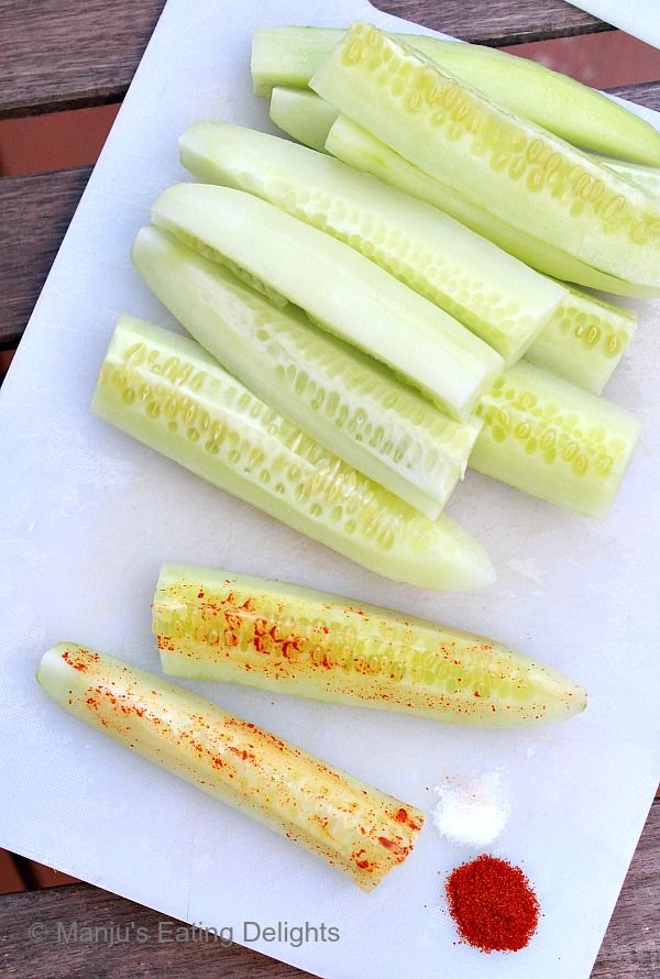
[[433,825],[440,836],[462,846],[482,847],[496,839],[512,812],[506,779],[487,771],[475,779],[448,776],[436,785]]

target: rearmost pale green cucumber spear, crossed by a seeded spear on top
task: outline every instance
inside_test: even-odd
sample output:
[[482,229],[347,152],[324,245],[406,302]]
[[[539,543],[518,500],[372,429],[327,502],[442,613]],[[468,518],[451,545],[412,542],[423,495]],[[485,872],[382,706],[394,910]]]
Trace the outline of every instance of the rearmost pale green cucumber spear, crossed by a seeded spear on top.
[[[267,28],[252,41],[255,92],[274,86],[305,88],[344,30]],[[605,156],[660,166],[660,133],[606,96],[544,65],[492,47],[459,44],[425,34],[395,34],[495,103],[522,116],[575,146]]]

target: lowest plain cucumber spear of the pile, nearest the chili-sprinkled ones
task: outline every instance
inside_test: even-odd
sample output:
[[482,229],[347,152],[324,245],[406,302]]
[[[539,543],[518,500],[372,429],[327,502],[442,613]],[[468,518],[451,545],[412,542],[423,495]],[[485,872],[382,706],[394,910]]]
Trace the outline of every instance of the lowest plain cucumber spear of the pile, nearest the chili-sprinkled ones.
[[355,472],[231,377],[193,340],[122,316],[94,410],[215,486],[372,571],[421,587],[494,580],[483,548]]

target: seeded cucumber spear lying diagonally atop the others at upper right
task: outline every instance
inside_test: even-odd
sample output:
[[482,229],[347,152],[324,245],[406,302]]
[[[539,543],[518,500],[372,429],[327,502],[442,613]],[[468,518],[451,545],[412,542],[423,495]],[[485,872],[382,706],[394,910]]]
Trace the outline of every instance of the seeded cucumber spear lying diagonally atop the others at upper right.
[[660,201],[384,32],[355,23],[310,86],[495,216],[660,294]]

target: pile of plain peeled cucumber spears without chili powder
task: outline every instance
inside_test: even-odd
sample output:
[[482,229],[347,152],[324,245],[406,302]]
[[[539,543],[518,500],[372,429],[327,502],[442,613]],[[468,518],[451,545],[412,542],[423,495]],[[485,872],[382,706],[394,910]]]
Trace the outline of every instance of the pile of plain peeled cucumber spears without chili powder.
[[162,194],[132,255],[196,342],[124,317],[95,409],[421,586],[494,578],[442,513],[468,465],[604,516],[639,426],[600,394],[636,317],[581,286],[660,293],[660,134],[540,66],[360,23],[260,31],[252,72],[310,145],[183,134],[204,184]]

